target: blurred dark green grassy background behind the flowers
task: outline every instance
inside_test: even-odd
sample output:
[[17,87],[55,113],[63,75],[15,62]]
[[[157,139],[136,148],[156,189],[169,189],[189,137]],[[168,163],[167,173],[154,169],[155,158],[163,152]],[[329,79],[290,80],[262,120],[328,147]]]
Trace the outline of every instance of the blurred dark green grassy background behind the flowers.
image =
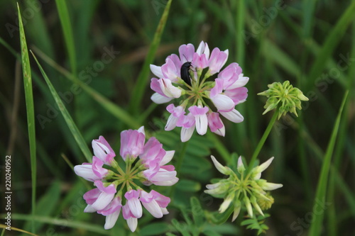
[[[152,105],[153,91],[149,89],[152,74],[146,77],[139,106],[130,107],[132,98],[137,96],[133,91],[137,77],[167,2],[66,1],[74,42],[69,54],[55,1],[18,2],[28,48],[37,55],[90,150],[91,141],[104,135],[119,153],[119,133],[133,127],[109,113],[79,86],[73,86],[65,72],[74,74],[126,110],[136,122],[145,125],[146,130],[155,133],[167,149],[181,150],[179,130],[161,131],[167,114],[164,105]],[[0,150],[3,157],[11,154],[13,226],[31,231],[31,161],[21,62],[9,50],[21,51],[17,17],[16,1],[0,1]],[[204,40],[211,50],[214,47],[229,49],[227,64],[238,62],[244,75],[250,78],[246,85],[248,99],[236,107],[244,115],[244,122],[224,122],[226,137],[218,137],[228,152],[250,159],[272,116],[272,112],[261,115],[265,99],[256,95],[266,90],[267,84],[289,80],[310,99],[302,104],[298,118],[286,116],[278,120],[259,155],[262,162],[275,157],[263,178],[283,184],[282,189],[273,192],[275,203],[268,210],[271,217],[266,220],[270,227],[267,235],[307,235],[312,218],[317,217],[312,210],[315,189],[346,90],[350,93],[332,155],[329,192],[327,199],[320,201],[327,201],[324,235],[353,235],[355,232],[354,18],[355,1],[172,2],[153,64],[161,65],[168,55],[178,54],[182,44],[192,43],[197,47]],[[48,64],[48,58],[57,64]],[[125,235],[128,231],[121,217],[113,230],[104,231],[102,215],[82,213],[82,194],[86,187],[62,155],[72,164],[81,164],[84,157],[32,55],[30,61],[38,165],[36,211],[40,215],[36,232],[38,235]],[[191,213],[190,196],[200,198],[202,208],[217,210],[221,201],[214,199],[211,204],[206,200],[208,196],[203,195],[205,184],[213,177],[221,177],[209,162],[211,153],[222,160],[215,147],[213,138],[194,135],[182,165],[180,176],[183,177],[175,190],[171,214],[163,221],[141,219],[140,230],[131,235],[149,235],[149,232],[151,235],[165,235],[165,232],[178,235],[170,220],[176,218],[184,222],[178,209]],[[4,165],[1,165],[1,191],[3,180]],[[2,206],[1,213],[4,213]],[[256,235],[239,226],[240,218],[242,216],[237,223],[231,224],[229,220],[219,226],[218,232]],[[62,221],[55,223],[53,219]],[[71,222],[77,225],[70,225]],[[158,227],[161,232],[149,231],[152,222],[157,224],[153,225],[155,230]],[[6,231],[5,235],[18,233]]]

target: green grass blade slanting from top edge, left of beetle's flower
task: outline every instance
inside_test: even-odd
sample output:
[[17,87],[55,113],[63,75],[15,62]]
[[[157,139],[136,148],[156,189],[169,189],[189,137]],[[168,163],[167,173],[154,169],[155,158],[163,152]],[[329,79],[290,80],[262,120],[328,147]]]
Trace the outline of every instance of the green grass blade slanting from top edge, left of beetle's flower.
[[133,113],[138,113],[141,101],[143,99],[144,91],[146,90],[146,86],[150,81],[150,79],[148,79],[149,72],[151,71],[149,64],[153,63],[155,52],[156,50],[158,50],[160,38],[163,35],[165,23],[166,21],[168,21],[171,1],[172,0],[169,0],[165,6],[163,15],[161,16],[158,27],[155,30],[153,42],[151,43],[151,47],[149,47],[148,55],[146,57],[146,60],[144,61],[141,72],[138,75],[136,85],[134,86],[133,91],[131,93],[131,103],[129,108],[130,111],[133,111]]

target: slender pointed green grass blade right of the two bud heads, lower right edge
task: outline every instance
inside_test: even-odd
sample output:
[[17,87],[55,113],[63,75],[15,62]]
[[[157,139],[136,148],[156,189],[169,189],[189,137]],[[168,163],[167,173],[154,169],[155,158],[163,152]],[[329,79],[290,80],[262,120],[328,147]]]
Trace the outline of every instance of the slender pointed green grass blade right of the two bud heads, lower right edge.
[[[329,175],[330,164],[332,161],[332,154],[335,146],[335,141],[337,140],[337,133],[339,130],[340,120],[342,118],[342,111],[348,94],[349,91],[346,91],[346,93],[344,94],[344,99],[342,101],[342,105],[339,108],[337,120],[335,120],[332,136],[330,137],[329,140],[327,152],[325,152],[324,155],[322,170],[320,173],[320,180],[318,181],[317,191],[315,194],[315,203],[314,203],[315,205],[313,206],[313,209],[317,207],[319,202],[324,202],[326,199],[328,175]],[[324,210],[322,210],[320,214],[317,214],[317,217],[315,217],[314,220],[312,221],[312,225],[310,227],[310,235],[317,236],[321,234],[323,217],[324,217]]]

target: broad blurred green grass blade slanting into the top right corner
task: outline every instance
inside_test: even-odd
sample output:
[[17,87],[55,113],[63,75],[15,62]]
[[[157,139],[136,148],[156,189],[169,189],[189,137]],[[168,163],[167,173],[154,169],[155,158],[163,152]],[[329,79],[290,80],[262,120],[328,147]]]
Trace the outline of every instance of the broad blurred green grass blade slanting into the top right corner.
[[339,18],[337,24],[332,28],[327,35],[327,38],[324,42],[322,50],[317,55],[315,63],[312,66],[308,77],[308,85],[310,86],[315,82],[315,79],[322,73],[327,60],[332,55],[335,47],[337,47],[339,41],[342,39],[342,35],[344,35],[346,28],[349,24],[355,19],[355,1],[351,2],[351,5],[346,8],[346,11],[343,13],[342,17]]

